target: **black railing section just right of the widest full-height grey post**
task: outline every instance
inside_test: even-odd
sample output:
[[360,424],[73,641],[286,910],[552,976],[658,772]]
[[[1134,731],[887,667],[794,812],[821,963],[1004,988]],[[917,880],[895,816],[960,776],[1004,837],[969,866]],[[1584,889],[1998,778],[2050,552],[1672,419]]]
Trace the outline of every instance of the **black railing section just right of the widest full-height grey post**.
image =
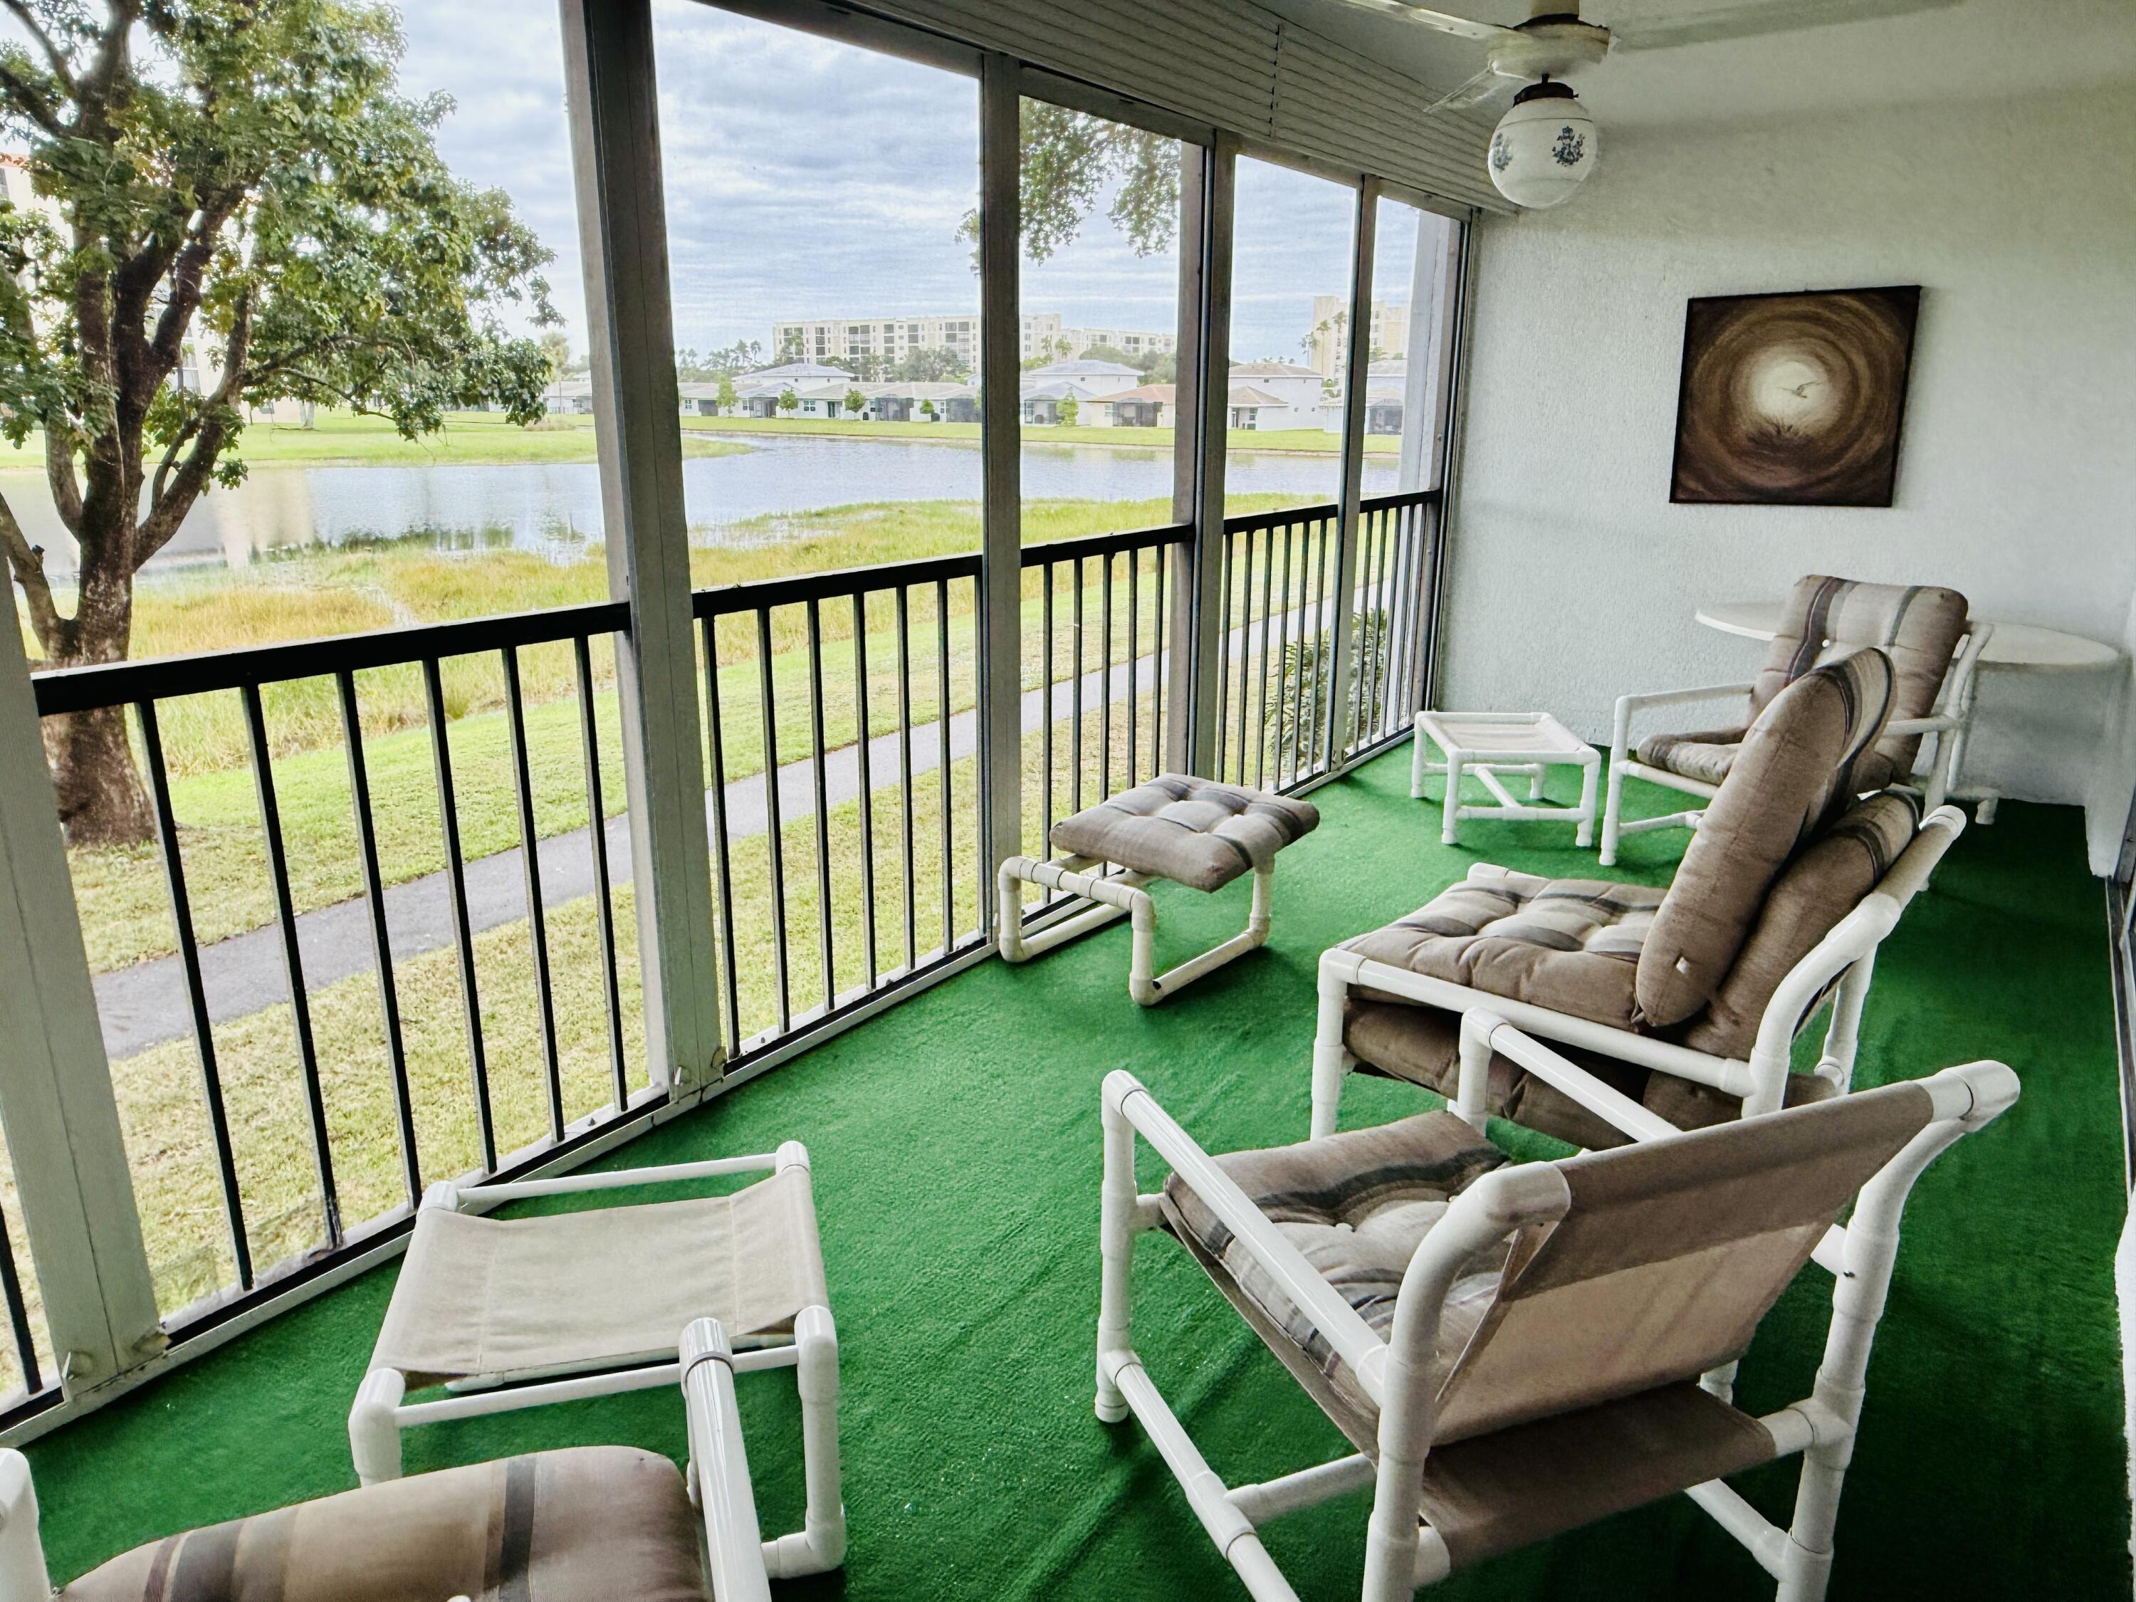
[[972,553],[694,596],[733,1057],[983,938],[978,572]]

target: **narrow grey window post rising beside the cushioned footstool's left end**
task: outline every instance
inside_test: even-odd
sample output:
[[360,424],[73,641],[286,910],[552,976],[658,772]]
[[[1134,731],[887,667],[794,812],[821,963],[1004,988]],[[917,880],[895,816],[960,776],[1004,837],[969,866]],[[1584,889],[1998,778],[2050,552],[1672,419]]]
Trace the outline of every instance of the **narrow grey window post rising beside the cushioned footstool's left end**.
[[[985,521],[978,566],[978,792],[987,861],[983,884],[1023,850],[1023,421],[1019,310],[1017,62],[980,62],[978,158],[978,393]],[[1051,716],[1045,707],[1040,716]],[[948,756],[944,756],[948,760]],[[1045,850],[1040,848],[1040,854]],[[980,897],[995,914],[995,897]]]

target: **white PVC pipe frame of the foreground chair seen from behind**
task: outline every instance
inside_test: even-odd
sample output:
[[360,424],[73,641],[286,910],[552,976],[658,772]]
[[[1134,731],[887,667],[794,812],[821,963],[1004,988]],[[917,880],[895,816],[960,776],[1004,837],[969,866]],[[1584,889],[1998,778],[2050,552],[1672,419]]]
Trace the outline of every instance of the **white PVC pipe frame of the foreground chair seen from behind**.
[[[1463,1083],[1478,1096],[1482,1074],[1476,1072],[1472,1081],[1467,1062],[1474,1055],[1478,1064],[1487,1064],[1491,1049],[1497,1049],[1598,1115],[1623,1119],[1619,1128],[1634,1141],[1700,1138],[1662,1126],[1636,1102],[1542,1042],[1521,1036],[1504,1019],[1463,1019],[1463,1038],[1476,1042],[1474,1051],[1463,1053]],[[1935,1156],[1961,1134],[1993,1121],[2019,1094],[2016,1074],[1997,1062],[1946,1068],[1916,1083],[1929,1098],[1927,1124],[1856,1192],[1848,1224],[1835,1224],[1816,1247],[1813,1260],[1833,1271],[1835,1284],[1824,1361],[1811,1395],[1752,1420],[1771,1438],[1773,1459],[1803,1457],[1790,1523],[1771,1523],[1717,1478],[1677,1487],[1777,1581],[1779,1602],[1820,1602],[1831,1579],[1839,1491],[1854,1455],[1869,1348],[1890,1286],[1905,1198]],[[1820,1109],[1775,1117],[1805,1113]],[[1480,1119],[1480,1102],[1463,1115]],[[1472,1271],[1478,1254],[1523,1230],[1568,1218],[1572,1192],[1559,1166],[1534,1162],[1497,1168],[1455,1196],[1410,1258],[1393,1324],[1382,1337],[1126,1070],[1115,1070],[1104,1081],[1102,1121],[1098,1418],[1136,1418],[1194,1517],[1258,1602],[1297,1602],[1288,1576],[1260,1540],[1260,1525],[1367,1485],[1373,1487],[1373,1504],[1365,1529],[1365,1602],[1397,1602],[1450,1574],[1457,1555],[1423,1510],[1425,1472],[1438,1446],[1440,1382],[1431,1354],[1440,1316],[1455,1279]],[[1378,1408],[1371,1457],[1354,1452],[1241,1487],[1228,1487],[1209,1467],[1132,1344],[1134,1241],[1147,1230],[1164,1228],[1164,1198],[1136,1192],[1136,1138],[1147,1141],[1171,1164],[1177,1179],[1303,1316],[1318,1341],[1356,1376]],[[1705,1378],[1702,1388],[1726,1403],[1732,1373],[1734,1365],[1717,1369]]]

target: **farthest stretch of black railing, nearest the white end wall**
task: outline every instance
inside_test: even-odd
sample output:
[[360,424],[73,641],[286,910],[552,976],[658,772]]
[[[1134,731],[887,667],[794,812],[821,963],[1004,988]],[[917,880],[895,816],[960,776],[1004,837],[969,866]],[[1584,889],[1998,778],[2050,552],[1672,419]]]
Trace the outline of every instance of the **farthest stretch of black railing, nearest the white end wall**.
[[[1435,491],[1358,506],[1346,679],[1335,673],[1337,508],[1224,519],[1218,775],[1292,790],[1408,728],[1423,694],[1435,508]],[[1337,684],[1348,684],[1341,707]]]

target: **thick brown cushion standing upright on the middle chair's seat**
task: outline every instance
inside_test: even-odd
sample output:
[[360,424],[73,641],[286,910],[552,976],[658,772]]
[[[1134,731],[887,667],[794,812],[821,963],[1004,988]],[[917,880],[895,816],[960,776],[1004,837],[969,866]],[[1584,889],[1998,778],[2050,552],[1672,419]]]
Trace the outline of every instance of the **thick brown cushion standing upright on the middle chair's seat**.
[[1805,673],[1758,716],[1640,942],[1640,1023],[1681,1023],[1719,989],[1779,869],[1856,792],[1890,701],[1890,658],[1869,649]]

